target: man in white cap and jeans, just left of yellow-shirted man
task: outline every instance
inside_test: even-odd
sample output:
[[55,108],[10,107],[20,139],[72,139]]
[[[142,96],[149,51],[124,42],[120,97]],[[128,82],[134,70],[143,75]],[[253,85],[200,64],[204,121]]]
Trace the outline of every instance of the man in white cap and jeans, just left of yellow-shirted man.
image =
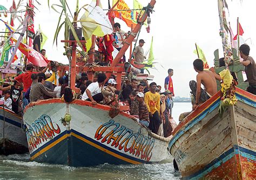
[[139,122],[146,127],[149,127],[149,109],[144,102],[144,94],[139,92],[136,97],[139,102]]

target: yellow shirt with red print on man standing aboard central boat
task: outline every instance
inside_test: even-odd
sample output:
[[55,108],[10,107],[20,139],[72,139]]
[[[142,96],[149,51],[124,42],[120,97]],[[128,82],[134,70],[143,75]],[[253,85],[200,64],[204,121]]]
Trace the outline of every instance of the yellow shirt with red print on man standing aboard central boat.
[[159,93],[151,93],[146,92],[144,95],[144,101],[149,109],[149,112],[154,114],[154,112],[158,111],[160,113],[160,94]]

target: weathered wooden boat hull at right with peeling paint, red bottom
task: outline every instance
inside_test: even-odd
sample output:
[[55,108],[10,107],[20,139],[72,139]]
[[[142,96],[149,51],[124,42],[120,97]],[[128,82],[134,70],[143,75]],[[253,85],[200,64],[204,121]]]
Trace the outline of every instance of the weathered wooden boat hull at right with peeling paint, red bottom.
[[185,179],[255,179],[256,96],[240,88],[235,95],[222,117],[218,92],[174,130],[168,150]]

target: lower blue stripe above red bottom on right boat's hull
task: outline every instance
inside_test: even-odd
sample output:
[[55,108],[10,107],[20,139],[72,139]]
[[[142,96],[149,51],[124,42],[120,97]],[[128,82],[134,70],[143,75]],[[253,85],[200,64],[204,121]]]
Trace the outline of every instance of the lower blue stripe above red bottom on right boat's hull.
[[230,160],[235,154],[240,154],[242,157],[246,157],[250,160],[255,161],[256,160],[256,152],[234,146],[233,148],[227,150],[225,153],[221,154],[218,158],[213,160],[210,164],[207,164],[203,169],[199,170],[198,172],[194,173],[193,175],[184,177],[184,179],[199,179],[203,178],[205,175],[207,175],[209,172],[211,172],[213,169],[218,168],[221,164],[227,162]]

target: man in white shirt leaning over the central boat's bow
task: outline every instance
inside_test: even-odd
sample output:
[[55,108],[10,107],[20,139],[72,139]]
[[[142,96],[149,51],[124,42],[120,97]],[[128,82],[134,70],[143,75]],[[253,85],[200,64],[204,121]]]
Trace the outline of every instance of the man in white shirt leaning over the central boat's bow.
[[85,90],[82,100],[91,101],[92,105],[97,105],[100,101],[103,101],[102,87],[106,80],[105,73],[99,73],[97,82],[92,82]]

